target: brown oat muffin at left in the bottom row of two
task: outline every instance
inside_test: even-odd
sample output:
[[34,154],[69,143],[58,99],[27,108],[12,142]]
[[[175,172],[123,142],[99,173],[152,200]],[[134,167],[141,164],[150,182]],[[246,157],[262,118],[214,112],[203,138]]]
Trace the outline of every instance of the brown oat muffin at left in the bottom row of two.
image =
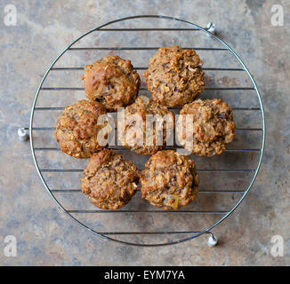
[[131,201],[137,190],[139,171],[111,149],[93,154],[84,170],[82,192],[101,209],[119,209]]

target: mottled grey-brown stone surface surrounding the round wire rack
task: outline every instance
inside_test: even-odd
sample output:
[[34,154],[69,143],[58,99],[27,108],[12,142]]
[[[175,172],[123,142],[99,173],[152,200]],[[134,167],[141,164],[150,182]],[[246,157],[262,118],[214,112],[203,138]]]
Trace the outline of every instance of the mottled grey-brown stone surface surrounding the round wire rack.
[[[0,22],[0,264],[2,265],[289,265],[290,60],[288,1],[8,1],[16,27]],[[284,27],[272,27],[271,6],[284,7]],[[267,122],[262,169],[253,190],[213,233],[163,248],[136,248],[104,241],[71,222],[45,192],[28,143],[17,129],[28,126],[30,107],[44,71],[77,36],[109,20],[163,14],[200,26],[213,21],[254,74]],[[18,240],[18,256],[4,256],[4,237]],[[274,235],[285,256],[270,255]]]

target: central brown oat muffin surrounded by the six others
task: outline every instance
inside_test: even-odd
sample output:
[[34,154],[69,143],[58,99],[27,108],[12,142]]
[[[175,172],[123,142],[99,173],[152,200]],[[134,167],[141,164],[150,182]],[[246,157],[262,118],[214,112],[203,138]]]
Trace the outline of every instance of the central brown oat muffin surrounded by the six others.
[[155,154],[173,144],[174,114],[145,96],[125,107],[117,126],[122,145],[137,154]]

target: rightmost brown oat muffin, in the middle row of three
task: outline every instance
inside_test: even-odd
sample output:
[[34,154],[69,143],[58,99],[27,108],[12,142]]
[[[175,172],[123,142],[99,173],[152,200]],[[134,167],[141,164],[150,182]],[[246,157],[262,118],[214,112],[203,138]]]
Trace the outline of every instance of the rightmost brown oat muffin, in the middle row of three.
[[232,108],[222,99],[197,99],[183,106],[180,114],[177,137],[192,154],[222,154],[236,136]]

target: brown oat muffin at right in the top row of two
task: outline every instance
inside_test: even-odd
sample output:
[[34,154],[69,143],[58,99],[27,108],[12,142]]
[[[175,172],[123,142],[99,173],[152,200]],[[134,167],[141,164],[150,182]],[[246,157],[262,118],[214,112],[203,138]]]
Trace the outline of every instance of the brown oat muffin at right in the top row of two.
[[143,73],[148,90],[164,106],[184,106],[205,89],[203,61],[194,50],[163,47],[150,59]]

